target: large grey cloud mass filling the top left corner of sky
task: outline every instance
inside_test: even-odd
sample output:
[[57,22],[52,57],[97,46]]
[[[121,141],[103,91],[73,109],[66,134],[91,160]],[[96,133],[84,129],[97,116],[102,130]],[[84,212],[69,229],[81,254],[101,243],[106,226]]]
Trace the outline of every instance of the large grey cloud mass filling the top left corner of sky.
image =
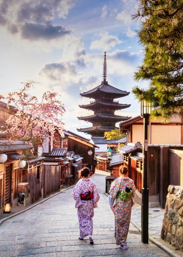
[[2,0],[0,26],[30,41],[58,39],[70,31],[52,21],[66,19],[74,4],[75,0]]

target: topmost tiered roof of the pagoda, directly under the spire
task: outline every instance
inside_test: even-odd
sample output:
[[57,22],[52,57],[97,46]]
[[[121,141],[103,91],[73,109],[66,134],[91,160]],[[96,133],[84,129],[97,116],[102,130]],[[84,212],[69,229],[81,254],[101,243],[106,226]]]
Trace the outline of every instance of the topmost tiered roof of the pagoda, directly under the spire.
[[130,92],[127,91],[123,91],[121,89],[115,88],[111,85],[108,84],[107,81],[102,81],[101,85],[97,86],[96,88],[93,88],[87,92],[84,92],[82,94],[80,94],[81,96],[84,97],[88,97],[88,98],[98,98],[99,94],[110,94],[111,98],[120,98],[120,97],[124,97],[127,96],[128,94],[130,94]]

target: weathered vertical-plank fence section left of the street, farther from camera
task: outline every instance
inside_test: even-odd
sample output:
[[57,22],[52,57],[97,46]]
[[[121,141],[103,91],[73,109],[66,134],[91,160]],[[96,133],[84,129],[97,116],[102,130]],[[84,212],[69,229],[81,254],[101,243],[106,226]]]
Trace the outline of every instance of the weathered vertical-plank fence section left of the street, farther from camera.
[[57,192],[61,186],[61,166],[44,165],[44,197]]

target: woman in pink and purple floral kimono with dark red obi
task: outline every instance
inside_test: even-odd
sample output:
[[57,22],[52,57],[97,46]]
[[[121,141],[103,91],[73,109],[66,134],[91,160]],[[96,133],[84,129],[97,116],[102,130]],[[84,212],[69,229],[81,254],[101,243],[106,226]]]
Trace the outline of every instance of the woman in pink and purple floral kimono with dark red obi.
[[76,201],[77,215],[79,219],[79,239],[89,236],[90,243],[93,244],[93,216],[94,208],[100,198],[98,187],[89,179],[90,169],[83,168],[79,172],[81,178],[72,190],[72,195]]

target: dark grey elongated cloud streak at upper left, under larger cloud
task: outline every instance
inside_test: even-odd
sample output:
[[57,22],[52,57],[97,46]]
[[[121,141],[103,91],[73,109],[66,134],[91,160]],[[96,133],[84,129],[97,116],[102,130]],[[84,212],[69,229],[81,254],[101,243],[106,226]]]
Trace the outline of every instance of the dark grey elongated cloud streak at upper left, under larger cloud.
[[29,40],[51,40],[69,33],[63,26],[53,26],[51,24],[25,23],[21,28],[22,38]]

